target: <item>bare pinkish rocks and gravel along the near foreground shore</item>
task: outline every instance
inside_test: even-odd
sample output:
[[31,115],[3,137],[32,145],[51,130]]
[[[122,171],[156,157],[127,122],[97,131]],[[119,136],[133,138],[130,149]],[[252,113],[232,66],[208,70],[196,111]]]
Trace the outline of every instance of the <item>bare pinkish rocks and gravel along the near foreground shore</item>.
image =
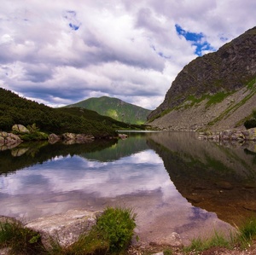
[[[50,241],[56,240],[61,246],[70,246],[79,239],[79,235],[88,233],[93,225],[96,224],[96,217],[102,212],[90,212],[86,210],[69,210],[67,212],[56,214],[49,217],[39,217],[29,223],[24,223],[24,227],[33,229],[40,233],[42,243],[45,247],[49,247]],[[0,217],[0,223],[14,222],[15,218]],[[165,251],[172,251],[166,253]],[[9,254],[9,249],[0,249],[0,255]],[[149,244],[137,241],[133,238],[131,246],[127,252],[128,255],[253,255],[256,254],[256,243],[253,242],[246,250],[238,247],[229,250],[223,247],[213,247],[203,252],[183,252],[183,243],[180,236],[173,232],[161,241],[154,241]]]

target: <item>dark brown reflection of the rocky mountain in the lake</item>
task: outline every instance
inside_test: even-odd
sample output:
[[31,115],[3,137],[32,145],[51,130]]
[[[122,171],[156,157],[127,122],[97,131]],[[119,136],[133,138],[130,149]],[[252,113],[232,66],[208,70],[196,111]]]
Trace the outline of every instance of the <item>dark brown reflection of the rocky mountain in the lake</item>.
[[154,133],[148,137],[164,161],[180,194],[193,206],[216,212],[218,218],[239,224],[256,216],[255,143],[224,147],[199,141],[194,133]]

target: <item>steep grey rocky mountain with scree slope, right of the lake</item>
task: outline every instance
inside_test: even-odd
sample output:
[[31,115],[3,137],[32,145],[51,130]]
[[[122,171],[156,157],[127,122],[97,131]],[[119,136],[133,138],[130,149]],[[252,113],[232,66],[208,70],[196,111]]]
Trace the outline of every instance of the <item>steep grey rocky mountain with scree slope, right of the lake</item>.
[[256,107],[256,26],[177,74],[148,124],[166,130],[239,127]]

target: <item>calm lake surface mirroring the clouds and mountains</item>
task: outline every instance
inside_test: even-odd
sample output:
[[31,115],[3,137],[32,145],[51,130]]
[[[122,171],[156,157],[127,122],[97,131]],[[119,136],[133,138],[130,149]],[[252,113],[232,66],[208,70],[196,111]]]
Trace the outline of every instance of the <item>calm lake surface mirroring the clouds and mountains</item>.
[[256,143],[195,133],[129,133],[89,144],[21,143],[0,152],[0,215],[31,221],[128,206],[142,241],[184,242],[256,215]]

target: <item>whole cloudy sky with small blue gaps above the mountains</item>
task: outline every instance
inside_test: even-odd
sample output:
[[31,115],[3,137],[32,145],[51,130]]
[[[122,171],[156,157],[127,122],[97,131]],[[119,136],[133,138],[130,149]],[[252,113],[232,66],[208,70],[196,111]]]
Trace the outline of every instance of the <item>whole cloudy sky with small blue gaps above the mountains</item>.
[[113,96],[154,109],[184,65],[256,26],[252,0],[9,0],[0,86],[58,107]]

